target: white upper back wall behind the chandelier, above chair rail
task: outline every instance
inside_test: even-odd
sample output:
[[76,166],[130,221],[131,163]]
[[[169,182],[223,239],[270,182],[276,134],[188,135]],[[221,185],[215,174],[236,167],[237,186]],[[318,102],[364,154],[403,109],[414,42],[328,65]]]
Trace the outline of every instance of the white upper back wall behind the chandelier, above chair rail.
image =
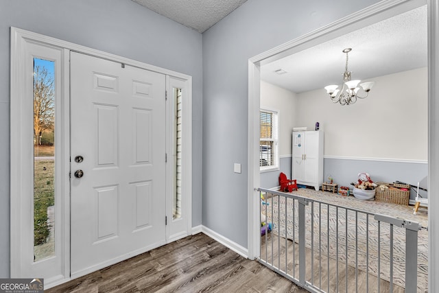
[[370,80],[369,96],[349,106],[324,89],[298,94],[298,123],[320,122],[325,156],[427,161],[427,68]]

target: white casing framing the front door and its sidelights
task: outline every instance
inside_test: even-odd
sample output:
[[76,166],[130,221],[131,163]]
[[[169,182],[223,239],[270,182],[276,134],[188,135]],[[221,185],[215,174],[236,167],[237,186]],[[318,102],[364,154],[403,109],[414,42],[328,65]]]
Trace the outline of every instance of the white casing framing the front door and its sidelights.
[[[23,137],[23,134],[21,134],[22,129],[24,129],[27,126],[23,125],[23,117],[21,116],[21,107],[25,104],[25,95],[28,93],[29,89],[25,89],[23,86],[21,86],[21,80],[23,80],[23,77],[21,75],[21,68],[23,68],[23,62],[21,58],[21,54],[23,54],[23,50],[25,50],[25,43],[36,43],[39,45],[48,45],[50,47],[58,47],[64,51],[64,56],[69,51],[78,51],[82,54],[88,54],[91,56],[96,56],[99,58],[104,58],[108,60],[113,60],[116,62],[120,62],[126,65],[131,65],[133,67],[139,67],[141,69],[146,69],[148,71],[154,71],[157,73],[162,73],[164,75],[169,75],[174,78],[178,78],[180,80],[184,80],[188,86],[187,94],[189,96],[189,99],[187,99],[187,102],[190,103],[187,106],[189,113],[187,113],[186,119],[188,119],[187,123],[185,124],[185,133],[188,136],[186,139],[188,145],[186,146],[189,154],[187,156],[187,164],[185,165],[185,186],[186,190],[185,192],[189,195],[189,198],[191,200],[191,184],[192,184],[192,171],[191,171],[191,86],[192,86],[192,78],[190,75],[186,75],[183,73],[178,73],[176,71],[171,71],[168,69],[163,69],[161,67],[156,67],[154,65],[147,65],[143,62],[139,62],[136,60],[131,60],[128,58],[124,58],[121,56],[116,56],[114,54],[109,54],[104,51],[99,51],[97,49],[91,49],[88,47],[84,47],[82,45],[77,45],[74,43],[69,43],[64,40],[59,40],[57,38],[51,38],[49,36],[44,36],[42,34],[37,34],[34,32],[29,32],[27,30],[22,30],[16,27],[11,27],[11,63],[10,63],[10,95],[11,95],[11,103],[10,103],[10,274],[12,277],[21,277],[21,248],[23,246],[23,243],[21,241],[21,237],[19,235],[19,231],[21,230],[21,227],[23,226],[23,222],[20,217],[20,207],[22,204],[23,198],[23,186],[29,185],[29,181],[27,178],[29,177],[29,174],[26,175],[25,170],[29,169],[29,158],[32,156],[28,153],[23,154],[23,146],[26,143],[25,137]],[[64,98],[69,100],[69,60],[65,58],[64,60],[64,69],[63,69],[63,81],[62,84],[64,86],[63,94]],[[32,91],[32,89],[30,89]],[[64,115],[63,117],[63,129],[64,133],[67,137],[64,137],[64,145],[66,145],[66,148],[69,147],[69,103],[64,105],[64,108],[62,109],[62,113]],[[189,116],[190,115],[190,116]],[[69,155],[69,149],[64,150],[64,152],[67,152],[67,154],[64,154],[66,157]],[[69,182],[69,164],[64,164],[64,167],[62,168],[64,175],[67,177],[65,180]],[[32,187],[33,188],[33,187]],[[67,184],[63,187],[64,192],[67,194],[67,197],[69,199],[69,190],[70,186]],[[60,283],[64,283],[66,281],[70,280],[70,263],[69,263],[69,257],[70,257],[70,238],[69,238],[69,231],[70,231],[70,206],[69,206],[69,200],[65,200],[63,202],[64,204],[64,276],[61,278],[58,278],[56,280],[52,280],[49,283],[45,282],[45,289],[54,287],[55,285],[59,285]],[[188,227],[191,225],[191,205],[188,208],[189,213],[189,221],[187,223]],[[188,229],[191,231],[191,228]],[[47,281],[47,280],[45,280]]]

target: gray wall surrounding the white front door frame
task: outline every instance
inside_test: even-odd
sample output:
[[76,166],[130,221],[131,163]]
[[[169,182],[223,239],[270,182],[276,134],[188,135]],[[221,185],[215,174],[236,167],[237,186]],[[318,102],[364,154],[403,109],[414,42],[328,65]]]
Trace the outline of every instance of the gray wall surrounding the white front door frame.
[[[193,226],[201,224],[202,35],[129,0],[0,0],[0,278],[10,272],[10,27],[193,77]],[[14,195],[12,195],[14,196]]]

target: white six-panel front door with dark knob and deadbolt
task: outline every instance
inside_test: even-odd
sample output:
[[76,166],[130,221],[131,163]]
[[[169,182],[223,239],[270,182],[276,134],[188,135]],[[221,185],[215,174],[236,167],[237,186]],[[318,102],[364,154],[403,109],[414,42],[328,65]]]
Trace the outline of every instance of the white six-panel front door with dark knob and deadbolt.
[[71,277],[165,244],[165,75],[71,52]]

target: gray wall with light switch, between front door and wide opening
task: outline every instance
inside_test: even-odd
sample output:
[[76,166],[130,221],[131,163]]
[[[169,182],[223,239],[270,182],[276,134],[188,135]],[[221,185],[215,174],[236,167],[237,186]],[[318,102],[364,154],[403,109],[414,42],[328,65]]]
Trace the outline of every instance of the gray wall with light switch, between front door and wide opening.
[[377,2],[251,0],[204,32],[204,226],[248,247],[248,59]]

